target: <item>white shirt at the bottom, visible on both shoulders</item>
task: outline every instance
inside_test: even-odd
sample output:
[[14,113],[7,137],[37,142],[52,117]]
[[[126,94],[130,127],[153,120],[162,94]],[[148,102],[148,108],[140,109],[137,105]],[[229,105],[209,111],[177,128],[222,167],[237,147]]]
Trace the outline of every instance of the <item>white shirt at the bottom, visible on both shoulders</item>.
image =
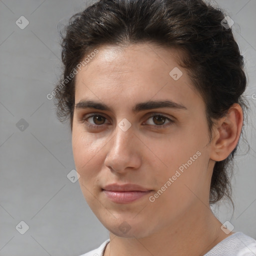
[[[98,248],[80,256],[103,256],[109,239],[105,240]],[[242,233],[236,232],[216,244],[204,256],[256,256],[256,240]]]

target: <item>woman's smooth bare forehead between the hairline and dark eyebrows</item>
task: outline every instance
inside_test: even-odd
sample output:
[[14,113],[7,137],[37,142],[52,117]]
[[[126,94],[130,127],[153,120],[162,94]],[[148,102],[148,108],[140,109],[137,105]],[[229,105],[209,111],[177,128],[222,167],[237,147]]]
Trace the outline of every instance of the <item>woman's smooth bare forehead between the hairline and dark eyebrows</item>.
[[[75,103],[84,97],[105,102],[115,96],[149,100],[169,95],[176,102],[198,97],[186,70],[179,66],[181,50],[151,43],[97,49],[98,53],[76,74]],[[182,70],[178,80],[169,74],[174,68]]]

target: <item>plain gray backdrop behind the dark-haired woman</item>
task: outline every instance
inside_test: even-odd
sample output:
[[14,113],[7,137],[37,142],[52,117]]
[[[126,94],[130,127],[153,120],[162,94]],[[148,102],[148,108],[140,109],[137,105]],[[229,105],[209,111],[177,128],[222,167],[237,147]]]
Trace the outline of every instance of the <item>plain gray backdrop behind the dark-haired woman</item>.
[[[108,231],[84,200],[78,181],[72,183],[66,177],[75,169],[71,132],[68,123],[57,120],[53,100],[46,98],[61,67],[56,25],[66,24],[72,14],[90,3],[0,0],[2,256],[76,256],[98,247],[108,238]],[[249,81],[246,97],[252,109],[245,130],[251,149],[246,153],[246,144],[241,143],[242,150],[234,165],[234,214],[230,205],[223,203],[213,210],[222,223],[229,220],[234,231],[256,239],[256,100],[252,98],[256,93],[256,0],[215,3],[235,22],[232,30],[245,57]],[[22,15],[29,21],[24,29],[15,23]],[[29,226],[24,234],[15,228],[21,220]]]

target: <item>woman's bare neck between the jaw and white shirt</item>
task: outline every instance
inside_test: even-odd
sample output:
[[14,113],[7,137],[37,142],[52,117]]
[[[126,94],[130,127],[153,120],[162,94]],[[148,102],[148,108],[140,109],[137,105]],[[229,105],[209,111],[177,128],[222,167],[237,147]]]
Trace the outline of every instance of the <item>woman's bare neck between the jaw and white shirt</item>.
[[[196,210],[195,210],[196,209]],[[199,209],[199,210],[198,210]],[[186,210],[156,233],[142,238],[120,237],[109,233],[110,242],[104,256],[204,255],[228,235],[220,229],[221,223],[209,206],[202,202],[194,210]]]

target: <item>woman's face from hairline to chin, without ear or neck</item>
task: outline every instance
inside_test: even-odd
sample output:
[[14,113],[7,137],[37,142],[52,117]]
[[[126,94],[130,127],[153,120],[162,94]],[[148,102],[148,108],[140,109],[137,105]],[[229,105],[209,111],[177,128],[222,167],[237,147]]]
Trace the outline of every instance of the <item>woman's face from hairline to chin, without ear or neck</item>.
[[[72,149],[79,184],[118,236],[145,237],[208,205],[214,162],[205,107],[177,54],[149,43],[105,46],[76,74]],[[105,193],[113,183],[147,192]]]

